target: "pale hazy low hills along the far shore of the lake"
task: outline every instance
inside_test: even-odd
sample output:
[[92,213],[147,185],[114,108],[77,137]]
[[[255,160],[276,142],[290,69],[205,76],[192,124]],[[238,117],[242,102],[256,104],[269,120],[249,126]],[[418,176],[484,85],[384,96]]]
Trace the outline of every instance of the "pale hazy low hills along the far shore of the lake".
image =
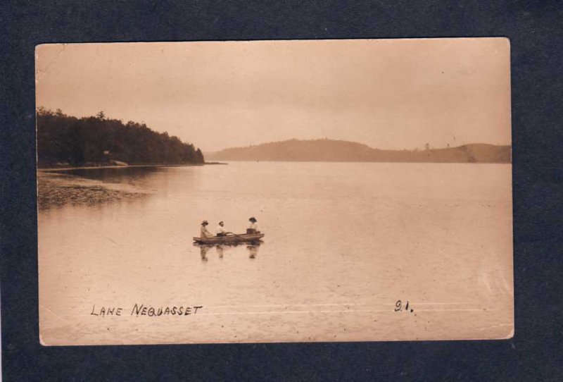
[[464,144],[428,150],[381,150],[343,140],[286,140],[208,153],[216,161],[510,163],[510,146]]

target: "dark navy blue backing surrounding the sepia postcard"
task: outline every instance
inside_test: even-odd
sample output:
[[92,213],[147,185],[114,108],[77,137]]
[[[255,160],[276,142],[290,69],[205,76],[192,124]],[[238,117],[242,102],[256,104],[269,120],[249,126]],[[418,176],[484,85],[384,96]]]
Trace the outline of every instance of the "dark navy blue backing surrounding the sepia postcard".
[[[5,380],[561,380],[562,25],[559,1],[2,1],[0,259]],[[39,345],[36,44],[460,36],[505,36],[512,44],[516,295],[512,340]]]

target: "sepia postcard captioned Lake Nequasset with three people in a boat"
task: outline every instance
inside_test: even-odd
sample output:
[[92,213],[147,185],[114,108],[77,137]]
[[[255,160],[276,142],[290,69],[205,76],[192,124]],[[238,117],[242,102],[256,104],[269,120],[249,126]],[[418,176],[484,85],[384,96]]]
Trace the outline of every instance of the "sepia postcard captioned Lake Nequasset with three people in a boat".
[[42,44],[43,345],[511,338],[504,38]]

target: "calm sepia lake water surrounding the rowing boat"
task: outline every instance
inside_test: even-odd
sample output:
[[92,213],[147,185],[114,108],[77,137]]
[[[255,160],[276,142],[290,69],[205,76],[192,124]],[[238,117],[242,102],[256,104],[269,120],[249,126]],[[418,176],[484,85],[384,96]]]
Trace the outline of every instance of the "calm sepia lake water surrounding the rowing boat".
[[[70,171],[140,194],[40,209],[42,342],[506,337],[511,172],[272,162]],[[261,245],[192,243],[203,219],[212,231],[224,221],[243,233],[250,216]],[[132,315],[135,304],[202,308]],[[92,314],[101,307],[121,307],[121,316]]]

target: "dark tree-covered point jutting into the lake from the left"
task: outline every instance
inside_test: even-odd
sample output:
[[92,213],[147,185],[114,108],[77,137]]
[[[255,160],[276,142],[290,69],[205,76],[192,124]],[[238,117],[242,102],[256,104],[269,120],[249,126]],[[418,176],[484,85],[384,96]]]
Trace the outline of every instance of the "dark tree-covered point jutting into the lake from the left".
[[37,164],[103,166],[104,164],[203,164],[194,144],[144,123],[122,123],[103,112],[76,118],[61,110],[37,109]]

